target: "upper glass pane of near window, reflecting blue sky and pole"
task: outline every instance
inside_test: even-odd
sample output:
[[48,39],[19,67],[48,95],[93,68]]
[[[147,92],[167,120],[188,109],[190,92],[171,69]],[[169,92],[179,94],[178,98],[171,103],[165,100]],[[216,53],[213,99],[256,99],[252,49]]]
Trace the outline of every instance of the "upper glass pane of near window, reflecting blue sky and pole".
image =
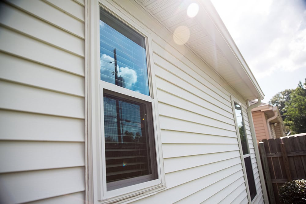
[[145,39],[100,8],[100,79],[149,95]]

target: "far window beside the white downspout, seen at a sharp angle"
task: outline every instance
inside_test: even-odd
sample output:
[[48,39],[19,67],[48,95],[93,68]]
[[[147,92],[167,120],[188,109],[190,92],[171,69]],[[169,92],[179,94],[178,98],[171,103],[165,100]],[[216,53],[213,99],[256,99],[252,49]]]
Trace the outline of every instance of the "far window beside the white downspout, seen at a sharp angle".
[[[244,126],[244,118],[242,112],[242,106],[236,102],[234,102],[235,115],[236,115],[236,126],[237,126],[237,136],[240,139],[241,149],[243,154],[245,172],[247,177],[248,191],[250,194],[251,200],[253,200],[256,196],[256,186],[251,162],[250,150],[248,147],[248,138],[245,131]],[[238,141],[239,141],[238,139]]]

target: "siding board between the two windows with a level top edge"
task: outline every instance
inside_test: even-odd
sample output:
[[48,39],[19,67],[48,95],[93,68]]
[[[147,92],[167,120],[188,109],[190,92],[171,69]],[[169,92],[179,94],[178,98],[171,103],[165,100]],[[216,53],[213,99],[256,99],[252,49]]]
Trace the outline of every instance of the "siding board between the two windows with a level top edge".
[[237,144],[163,144],[164,158],[239,150]]

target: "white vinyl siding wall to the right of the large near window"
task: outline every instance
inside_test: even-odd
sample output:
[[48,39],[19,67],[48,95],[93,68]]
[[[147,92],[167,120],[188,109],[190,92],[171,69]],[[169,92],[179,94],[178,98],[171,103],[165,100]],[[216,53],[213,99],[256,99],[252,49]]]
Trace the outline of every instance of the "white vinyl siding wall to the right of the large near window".
[[[149,24],[143,16],[138,20]],[[187,59],[158,32],[152,32],[152,41],[167,188],[135,203],[247,203],[230,99],[236,93],[210,75],[206,64]],[[253,203],[263,203],[248,117],[243,114],[254,158],[258,195]]]

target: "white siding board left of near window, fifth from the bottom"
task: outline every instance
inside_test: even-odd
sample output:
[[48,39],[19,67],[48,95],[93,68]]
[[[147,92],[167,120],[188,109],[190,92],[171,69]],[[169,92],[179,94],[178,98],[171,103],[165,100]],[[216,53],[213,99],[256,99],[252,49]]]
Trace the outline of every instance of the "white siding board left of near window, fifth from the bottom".
[[0,81],[0,108],[84,118],[84,98]]

